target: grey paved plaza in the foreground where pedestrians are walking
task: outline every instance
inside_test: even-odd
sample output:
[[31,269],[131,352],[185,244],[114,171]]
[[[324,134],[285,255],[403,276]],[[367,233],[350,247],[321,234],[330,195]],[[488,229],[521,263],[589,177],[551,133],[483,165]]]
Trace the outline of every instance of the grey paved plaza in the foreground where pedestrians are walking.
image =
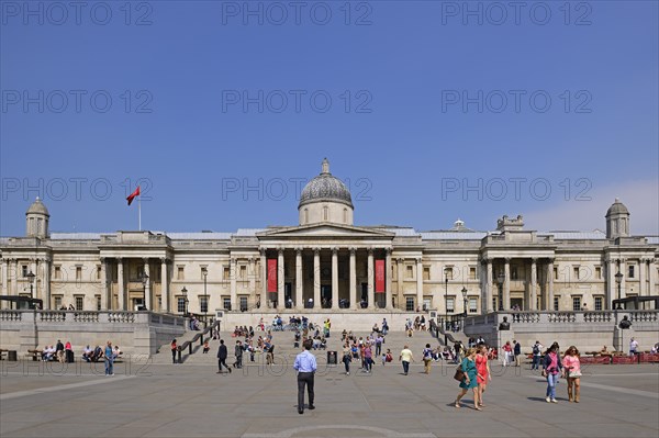
[[[281,336],[281,335],[279,335]],[[277,336],[276,336],[277,339]],[[415,339],[416,340],[416,339]],[[421,341],[416,340],[415,344]],[[425,340],[423,340],[425,342]],[[230,345],[232,342],[230,341]],[[402,374],[398,345],[393,364],[371,374],[326,366],[317,351],[316,409],[297,412],[294,350],[273,367],[247,362],[216,374],[215,349],[182,364],[134,358],[104,377],[101,363],[0,364],[2,437],[654,437],[659,435],[659,368],[656,364],[590,366],[581,403],[545,402],[545,382],[528,366],[492,362],[485,407],[471,396],[453,406],[455,366],[433,363],[424,374],[417,359]],[[230,350],[231,351],[231,350]],[[420,356],[420,351],[414,351]],[[160,356],[160,355],[157,355]],[[247,357],[246,357],[247,358]],[[259,358],[260,359],[260,358]],[[230,360],[231,362],[232,360]],[[356,363],[354,362],[354,366]]]

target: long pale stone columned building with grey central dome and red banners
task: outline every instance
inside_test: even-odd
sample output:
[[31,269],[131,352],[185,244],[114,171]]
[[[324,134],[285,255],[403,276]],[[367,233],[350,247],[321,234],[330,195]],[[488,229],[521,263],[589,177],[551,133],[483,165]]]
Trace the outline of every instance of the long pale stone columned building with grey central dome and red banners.
[[659,290],[659,238],[630,236],[629,212],[617,200],[606,233],[527,231],[522,216],[503,216],[490,232],[461,221],[433,232],[355,226],[350,192],[324,160],[298,211],[297,226],[235,233],[51,234],[37,199],[25,237],[0,239],[0,295],[81,311],[479,314],[606,310],[615,299]]

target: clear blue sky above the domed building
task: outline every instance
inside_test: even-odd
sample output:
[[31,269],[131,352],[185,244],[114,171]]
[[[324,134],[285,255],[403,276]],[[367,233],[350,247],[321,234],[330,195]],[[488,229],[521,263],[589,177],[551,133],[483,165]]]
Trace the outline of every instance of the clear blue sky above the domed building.
[[656,1],[0,4],[0,235],[295,225],[323,157],[357,225],[659,234]]

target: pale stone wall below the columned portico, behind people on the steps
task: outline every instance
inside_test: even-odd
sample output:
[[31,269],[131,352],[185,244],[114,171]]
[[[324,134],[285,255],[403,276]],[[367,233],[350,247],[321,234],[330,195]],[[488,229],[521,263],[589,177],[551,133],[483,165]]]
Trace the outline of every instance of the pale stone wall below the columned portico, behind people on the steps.
[[275,316],[280,315],[283,324],[289,322],[291,316],[306,316],[313,324],[323,324],[323,322],[330,318],[332,323],[332,330],[347,330],[354,332],[370,332],[373,324],[378,324],[378,327],[382,325],[382,319],[387,318],[389,329],[393,332],[403,332],[405,329],[405,321],[407,318],[414,321],[416,316],[424,315],[426,318],[426,326],[428,324],[428,313],[414,313],[414,312],[387,312],[387,311],[277,311],[266,308],[261,312],[252,313],[247,312],[224,312],[222,316],[222,330],[232,330],[235,326],[253,326],[256,327],[261,318],[266,326],[272,324]]

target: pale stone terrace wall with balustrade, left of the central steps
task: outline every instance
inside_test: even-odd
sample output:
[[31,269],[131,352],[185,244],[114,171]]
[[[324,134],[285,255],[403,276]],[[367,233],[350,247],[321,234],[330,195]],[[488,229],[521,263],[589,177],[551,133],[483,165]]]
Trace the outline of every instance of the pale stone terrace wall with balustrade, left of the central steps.
[[0,348],[27,350],[70,341],[76,357],[108,340],[126,355],[153,355],[186,332],[186,319],[152,312],[0,311]]

